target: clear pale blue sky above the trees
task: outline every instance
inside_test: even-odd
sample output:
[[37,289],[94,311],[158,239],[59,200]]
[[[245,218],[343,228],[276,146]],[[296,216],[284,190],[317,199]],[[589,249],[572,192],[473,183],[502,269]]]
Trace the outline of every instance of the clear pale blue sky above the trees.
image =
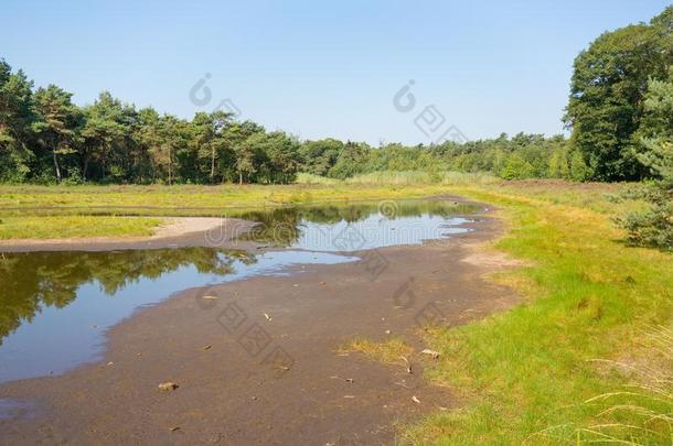
[[79,105],[109,90],[300,139],[558,134],[575,56],[670,1],[4,0],[0,58]]

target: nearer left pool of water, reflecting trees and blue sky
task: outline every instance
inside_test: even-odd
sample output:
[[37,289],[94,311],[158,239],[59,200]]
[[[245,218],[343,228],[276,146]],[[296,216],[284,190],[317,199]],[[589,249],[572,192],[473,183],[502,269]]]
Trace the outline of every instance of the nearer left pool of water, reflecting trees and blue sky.
[[107,328],[178,291],[278,275],[296,264],[357,260],[324,252],[249,255],[209,248],[6,258],[14,263],[17,274],[0,291],[0,330],[7,335],[0,345],[0,382],[60,374],[103,359]]

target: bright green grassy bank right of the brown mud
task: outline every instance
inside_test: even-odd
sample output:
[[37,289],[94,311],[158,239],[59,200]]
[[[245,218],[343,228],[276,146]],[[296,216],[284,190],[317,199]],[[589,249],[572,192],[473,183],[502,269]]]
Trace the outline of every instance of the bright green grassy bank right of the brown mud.
[[[528,182],[451,188],[501,207],[511,229],[495,248],[530,266],[499,278],[527,301],[428,335],[442,353],[428,377],[469,403],[409,427],[410,443],[584,444],[583,426],[638,422],[598,416],[585,401],[628,381],[596,359],[630,357],[645,348],[648,327],[671,324],[673,257],[620,242],[623,235],[610,219],[620,209],[605,195],[615,187]],[[671,363],[663,367],[670,371]],[[671,444],[670,424],[649,428],[626,439]]]

